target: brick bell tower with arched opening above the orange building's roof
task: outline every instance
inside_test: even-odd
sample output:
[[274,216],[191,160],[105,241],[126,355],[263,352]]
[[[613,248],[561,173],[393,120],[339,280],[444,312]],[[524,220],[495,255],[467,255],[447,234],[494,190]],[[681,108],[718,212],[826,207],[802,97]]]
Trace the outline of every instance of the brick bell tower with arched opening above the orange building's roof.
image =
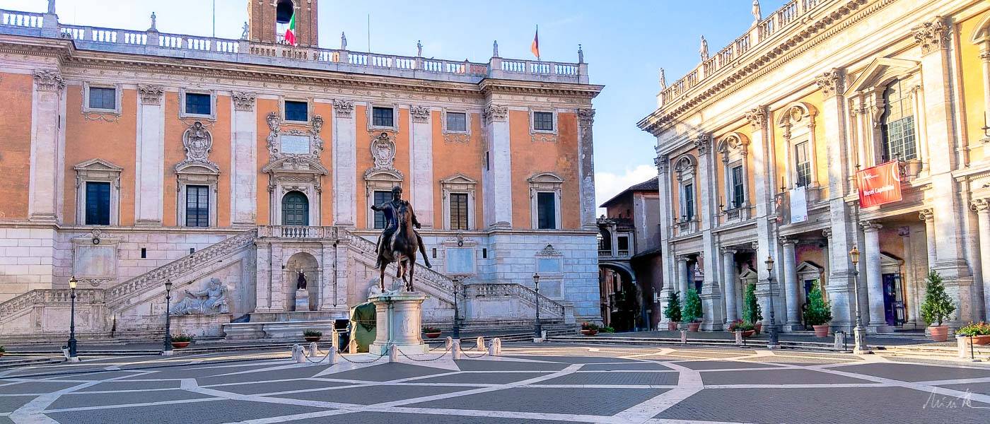
[[251,42],[285,42],[292,15],[296,16],[296,43],[317,46],[318,0],[247,0]]

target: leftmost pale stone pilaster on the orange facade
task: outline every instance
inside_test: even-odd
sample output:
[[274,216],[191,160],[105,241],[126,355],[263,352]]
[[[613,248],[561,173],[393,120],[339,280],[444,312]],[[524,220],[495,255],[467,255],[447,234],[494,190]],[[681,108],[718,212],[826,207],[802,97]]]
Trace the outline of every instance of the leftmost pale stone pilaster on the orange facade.
[[31,176],[28,188],[28,219],[61,222],[61,166],[64,134],[59,115],[64,102],[65,82],[54,69],[35,71],[31,108]]

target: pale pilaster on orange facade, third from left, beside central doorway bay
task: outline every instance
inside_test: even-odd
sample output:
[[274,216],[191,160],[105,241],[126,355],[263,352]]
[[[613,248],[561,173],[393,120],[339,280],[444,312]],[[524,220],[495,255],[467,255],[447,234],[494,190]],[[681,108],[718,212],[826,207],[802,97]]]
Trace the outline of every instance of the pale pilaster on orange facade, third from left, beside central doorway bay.
[[231,224],[257,222],[257,114],[254,93],[234,92],[231,103]]

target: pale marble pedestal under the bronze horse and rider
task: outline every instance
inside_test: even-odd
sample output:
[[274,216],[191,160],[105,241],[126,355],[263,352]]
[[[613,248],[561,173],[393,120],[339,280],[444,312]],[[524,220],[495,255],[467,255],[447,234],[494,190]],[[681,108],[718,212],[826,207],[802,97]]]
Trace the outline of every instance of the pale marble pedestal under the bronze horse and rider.
[[422,355],[430,351],[421,337],[423,300],[421,293],[386,293],[370,297],[375,308],[375,339],[368,346],[371,355],[387,355],[389,345],[395,345],[406,355]]

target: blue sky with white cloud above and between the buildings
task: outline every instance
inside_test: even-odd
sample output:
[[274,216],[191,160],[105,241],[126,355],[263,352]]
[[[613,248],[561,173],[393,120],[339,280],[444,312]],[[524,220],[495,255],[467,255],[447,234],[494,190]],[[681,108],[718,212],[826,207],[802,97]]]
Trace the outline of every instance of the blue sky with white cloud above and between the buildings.
[[[216,0],[216,36],[238,39],[247,21],[248,0]],[[765,17],[784,0],[761,0]],[[0,9],[44,12],[46,0],[0,0]],[[320,44],[368,45],[381,53],[416,54],[423,42],[427,57],[487,61],[492,41],[503,57],[529,58],[530,42],[540,25],[545,60],[577,61],[584,47],[591,82],[605,85],[594,101],[597,202],[642,182],[656,171],[654,139],[636,123],[656,106],[657,68],[667,82],[699,62],[704,35],[714,53],[740,37],[752,22],[751,0],[321,0]],[[57,0],[62,23],[145,30],[154,11],[158,31],[198,36],[213,34],[211,0]]]

